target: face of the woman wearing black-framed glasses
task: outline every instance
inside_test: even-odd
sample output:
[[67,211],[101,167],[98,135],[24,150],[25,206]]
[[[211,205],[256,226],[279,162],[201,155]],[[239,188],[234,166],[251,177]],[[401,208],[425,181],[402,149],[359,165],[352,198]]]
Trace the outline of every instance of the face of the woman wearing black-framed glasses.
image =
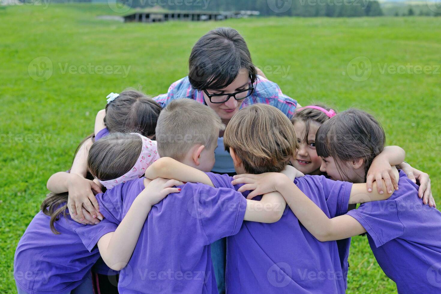
[[[211,89],[206,89],[206,90],[209,94],[223,94],[223,93],[232,94],[244,89],[248,89],[249,82],[250,82],[250,78],[248,75],[248,71],[241,69],[235,80],[227,87],[219,90],[211,90]],[[234,97],[230,97],[230,99],[228,99],[228,101],[224,103],[211,103],[206,93],[205,92],[202,93],[204,94],[205,103],[209,107],[211,107],[217,113],[217,115],[221,117],[221,119],[224,122],[225,121],[228,122],[233,117],[233,115],[235,115],[239,111],[239,108],[242,105],[243,100],[245,100],[245,99],[235,100]]]

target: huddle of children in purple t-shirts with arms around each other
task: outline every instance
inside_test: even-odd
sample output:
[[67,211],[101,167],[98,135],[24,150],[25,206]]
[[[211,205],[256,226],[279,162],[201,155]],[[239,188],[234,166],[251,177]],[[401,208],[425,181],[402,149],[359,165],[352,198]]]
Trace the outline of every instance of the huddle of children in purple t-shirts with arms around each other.
[[[234,178],[210,172],[222,130]],[[290,120],[254,104],[225,128],[197,101],[161,109],[127,90],[109,95],[78,154],[19,241],[19,293],[217,293],[210,244],[224,237],[228,293],[344,293],[350,237],[363,233],[400,293],[441,291],[441,212],[366,112],[313,105]],[[385,165],[392,179],[366,185]],[[81,175],[97,224],[74,220]]]

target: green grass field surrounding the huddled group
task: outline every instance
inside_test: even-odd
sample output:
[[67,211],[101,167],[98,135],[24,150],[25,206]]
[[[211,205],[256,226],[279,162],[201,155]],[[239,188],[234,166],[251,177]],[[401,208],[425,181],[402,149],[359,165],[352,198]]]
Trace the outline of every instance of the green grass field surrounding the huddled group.
[[[96,19],[112,14],[106,5],[89,4],[0,10],[1,293],[15,293],[15,247],[48,192],[47,179],[70,167],[75,147],[93,131],[107,94],[139,86],[151,95],[165,93],[186,75],[192,45],[217,26],[239,30],[254,63],[300,104],[322,102],[339,111],[359,107],[373,112],[388,144],[403,147],[407,161],[431,175],[441,207],[439,19],[156,24]],[[355,75],[351,60],[360,70],[367,65],[367,71]],[[426,66],[425,72],[418,73],[418,66]],[[396,292],[365,237],[353,238],[349,262],[348,293]]]

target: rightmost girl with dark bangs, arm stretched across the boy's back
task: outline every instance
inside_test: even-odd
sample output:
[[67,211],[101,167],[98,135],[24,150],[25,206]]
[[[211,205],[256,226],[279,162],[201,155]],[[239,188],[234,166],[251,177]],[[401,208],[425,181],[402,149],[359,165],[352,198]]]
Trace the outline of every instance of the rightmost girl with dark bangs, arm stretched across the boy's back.
[[[383,151],[385,133],[372,115],[350,109],[323,123],[316,142],[317,154],[323,161],[320,170],[331,179],[354,183],[352,195],[354,188],[359,187],[356,185],[366,181],[374,158]],[[394,174],[400,189],[393,191],[389,198],[366,202],[332,219],[284,175],[246,177],[254,190],[249,197],[268,193],[273,190],[271,186],[275,186],[303,226],[322,242],[367,233],[378,264],[396,283],[399,293],[437,293],[441,270],[441,212],[431,197],[429,205],[422,203],[419,186],[403,171],[398,173],[395,169]],[[361,191],[357,194],[364,199],[371,196]]]

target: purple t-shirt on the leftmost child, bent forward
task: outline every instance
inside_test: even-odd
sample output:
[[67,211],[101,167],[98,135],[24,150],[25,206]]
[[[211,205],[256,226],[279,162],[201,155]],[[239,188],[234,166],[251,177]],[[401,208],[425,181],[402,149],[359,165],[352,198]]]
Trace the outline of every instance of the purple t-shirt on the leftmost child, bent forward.
[[[75,233],[84,225],[60,215],[52,233],[50,216],[38,212],[19,241],[14,257],[17,287],[29,294],[68,293],[90,274],[100,257],[98,249],[87,250]],[[116,225],[102,220],[102,231],[115,231]]]

